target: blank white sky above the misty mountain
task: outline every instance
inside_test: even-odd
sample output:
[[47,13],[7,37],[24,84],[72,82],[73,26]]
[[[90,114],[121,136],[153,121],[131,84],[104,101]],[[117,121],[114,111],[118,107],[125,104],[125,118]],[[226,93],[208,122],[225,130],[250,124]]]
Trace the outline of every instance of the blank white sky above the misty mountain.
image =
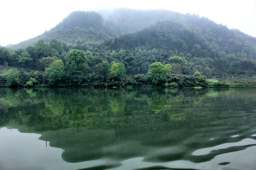
[[0,0],[0,44],[36,37],[75,10],[116,7],[197,14],[256,37],[256,0]]

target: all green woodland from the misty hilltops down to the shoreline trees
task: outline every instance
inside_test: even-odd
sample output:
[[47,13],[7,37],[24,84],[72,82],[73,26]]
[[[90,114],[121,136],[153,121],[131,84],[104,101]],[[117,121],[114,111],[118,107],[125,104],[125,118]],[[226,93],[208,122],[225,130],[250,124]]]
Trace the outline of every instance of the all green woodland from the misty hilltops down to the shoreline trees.
[[14,47],[0,47],[0,65],[38,71],[8,70],[2,86],[192,87],[256,71],[256,38],[165,10],[76,11]]

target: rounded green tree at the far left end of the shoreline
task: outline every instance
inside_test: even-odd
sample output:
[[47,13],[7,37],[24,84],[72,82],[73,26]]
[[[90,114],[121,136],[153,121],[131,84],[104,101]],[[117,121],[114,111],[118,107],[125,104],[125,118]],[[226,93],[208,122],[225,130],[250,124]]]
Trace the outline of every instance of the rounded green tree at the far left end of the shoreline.
[[3,78],[7,86],[18,86],[20,84],[19,71],[17,68],[10,68],[3,73]]

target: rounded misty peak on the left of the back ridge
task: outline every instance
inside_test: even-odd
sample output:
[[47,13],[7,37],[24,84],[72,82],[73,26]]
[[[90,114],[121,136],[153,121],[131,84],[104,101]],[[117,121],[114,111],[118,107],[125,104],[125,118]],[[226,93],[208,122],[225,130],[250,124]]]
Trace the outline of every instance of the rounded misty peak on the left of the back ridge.
[[111,29],[108,24],[104,24],[99,13],[75,11],[51,30],[35,38],[20,42],[12,48],[32,46],[40,39],[45,42],[56,39],[67,45],[80,46],[87,43],[103,42],[115,37],[116,34],[119,33],[115,29]]

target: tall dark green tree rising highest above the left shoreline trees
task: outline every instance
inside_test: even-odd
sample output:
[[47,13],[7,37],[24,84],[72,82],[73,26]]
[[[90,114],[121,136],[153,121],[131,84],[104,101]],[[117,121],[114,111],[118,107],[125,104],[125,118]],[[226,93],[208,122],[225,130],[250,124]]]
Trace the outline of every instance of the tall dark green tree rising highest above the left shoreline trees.
[[65,69],[68,74],[84,75],[87,68],[87,57],[82,50],[68,51],[65,57]]

